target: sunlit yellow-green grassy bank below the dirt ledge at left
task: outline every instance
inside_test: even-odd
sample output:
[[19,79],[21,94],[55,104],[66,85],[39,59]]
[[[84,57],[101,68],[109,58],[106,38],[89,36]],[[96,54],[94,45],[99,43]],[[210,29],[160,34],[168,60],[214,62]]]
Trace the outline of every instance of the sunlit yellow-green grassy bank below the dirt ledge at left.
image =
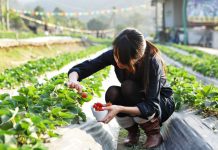
[[82,48],[84,48],[84,45],[79,43],[53,44],[39,47],[24,46],[2,48],[0,49],[0,72],[24,64],[29,60],[37,60],[43,57],[55,57],[59,54]]

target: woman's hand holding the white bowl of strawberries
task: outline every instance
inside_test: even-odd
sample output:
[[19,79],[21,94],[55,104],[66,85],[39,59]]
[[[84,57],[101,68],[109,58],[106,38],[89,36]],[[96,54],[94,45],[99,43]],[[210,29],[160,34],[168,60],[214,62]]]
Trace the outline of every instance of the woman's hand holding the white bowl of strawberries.
[[101,121],[104,123],[109,123],[120,111],[121,106],[119,105],[111,105],[104,107],[104,110],[108,110],[107,116]]

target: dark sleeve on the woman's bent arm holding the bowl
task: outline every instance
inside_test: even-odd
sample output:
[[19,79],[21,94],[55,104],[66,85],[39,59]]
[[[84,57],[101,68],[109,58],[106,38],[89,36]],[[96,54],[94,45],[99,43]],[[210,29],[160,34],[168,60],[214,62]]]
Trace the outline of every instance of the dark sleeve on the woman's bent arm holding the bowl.
[[160,78],[162,69],[161,62],[157,58],[153,58],[150,64],[149,86],[145,94],[145,100],[137,104],[142,118],[148,119],[154,113],[157,115],[160,113]]

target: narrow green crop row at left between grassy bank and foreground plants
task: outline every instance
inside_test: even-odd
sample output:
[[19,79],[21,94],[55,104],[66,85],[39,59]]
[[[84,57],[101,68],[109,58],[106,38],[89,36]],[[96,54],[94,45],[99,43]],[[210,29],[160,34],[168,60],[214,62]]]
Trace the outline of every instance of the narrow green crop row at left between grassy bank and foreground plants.
[[55,58],[42,58],[36,61],[29,61],[24,65],[6,69],[0,74],[0,88],[14,88],[15,86],[24,85],[26,82],[37,83],[37,77],[39,75],[47,71],[58,70],[71,61],[94,54],[103,48],[106,48],[106,45],[92,46],[82,51],[65,53]]

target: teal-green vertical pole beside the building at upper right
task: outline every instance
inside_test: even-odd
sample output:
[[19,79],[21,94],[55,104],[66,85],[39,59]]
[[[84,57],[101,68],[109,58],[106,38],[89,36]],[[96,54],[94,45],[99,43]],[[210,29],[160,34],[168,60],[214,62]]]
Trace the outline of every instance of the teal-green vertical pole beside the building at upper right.
[[182,22],[183,22],[183,30],[184,30],[184,44],[188,44],[188,33],[187,33],[187,0],[183,0],[183,7],[182,7]]

